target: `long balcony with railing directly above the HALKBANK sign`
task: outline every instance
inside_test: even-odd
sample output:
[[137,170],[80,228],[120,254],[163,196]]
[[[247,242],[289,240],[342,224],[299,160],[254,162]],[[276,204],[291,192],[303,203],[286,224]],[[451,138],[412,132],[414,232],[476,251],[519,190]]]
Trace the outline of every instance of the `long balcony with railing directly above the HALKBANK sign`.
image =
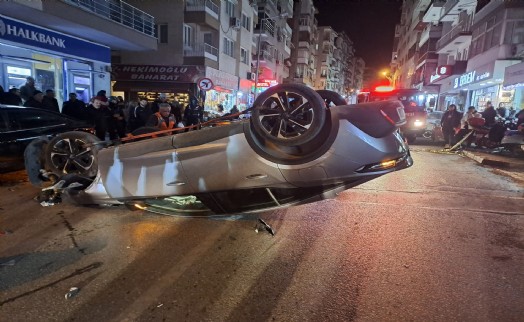
[[155,19],[124,1],[4,1],[2,14],[111,47],[156,50]]

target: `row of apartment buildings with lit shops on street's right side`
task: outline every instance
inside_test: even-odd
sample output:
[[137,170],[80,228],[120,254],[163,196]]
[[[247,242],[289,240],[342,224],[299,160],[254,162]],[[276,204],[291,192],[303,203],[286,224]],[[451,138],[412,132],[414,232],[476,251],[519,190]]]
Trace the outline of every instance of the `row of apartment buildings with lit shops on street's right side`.
[[[403,35],[406,21],[413,21],[418,12],[408,10],[410,6],[423,8],[416,2],[404,1],[398,35]],[[433,56],[423,48],[423,38],[437,38],[440,33],[435,46],[437,66],[429,78],[430,85],[438,86],[437,109],[444,110],[453,103],[460,109],[473,105],[482,111],[488,101],[495,106],[524,108],[522,1],[434,0],[424,10],[422,22],[426,25],[418,47],[409,47],[413,35],[398,39],[392,59],[398,84],[416,86],[412,81],[415,75],[414,79],[422,80],[426,86],[426,72],[417,74],[414,61],[424,53],[428,58]],[[406,46],[409,49],[404,49]],[[426,66],[426,70],[431,70],[430,64]],[[417,78],[419,75],[424,78]]]

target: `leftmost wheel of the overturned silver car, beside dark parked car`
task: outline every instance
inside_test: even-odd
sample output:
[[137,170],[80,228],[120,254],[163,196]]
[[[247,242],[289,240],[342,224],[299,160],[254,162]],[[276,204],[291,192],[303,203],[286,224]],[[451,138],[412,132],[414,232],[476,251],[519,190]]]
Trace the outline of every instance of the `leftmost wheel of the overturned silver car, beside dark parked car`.
[[86,132],[59,134],[47,144],[46,165],[58,176],[73,173],[94,177],[98,171],[100,142],[96,136]]

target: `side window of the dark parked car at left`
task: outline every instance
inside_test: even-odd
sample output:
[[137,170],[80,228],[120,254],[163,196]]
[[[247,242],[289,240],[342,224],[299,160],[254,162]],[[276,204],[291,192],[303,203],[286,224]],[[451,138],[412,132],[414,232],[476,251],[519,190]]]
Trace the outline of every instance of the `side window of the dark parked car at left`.
[[9,111],[9,123],[13,130],[34,129],[67,123],[64,118],[44,110],[16,109]]

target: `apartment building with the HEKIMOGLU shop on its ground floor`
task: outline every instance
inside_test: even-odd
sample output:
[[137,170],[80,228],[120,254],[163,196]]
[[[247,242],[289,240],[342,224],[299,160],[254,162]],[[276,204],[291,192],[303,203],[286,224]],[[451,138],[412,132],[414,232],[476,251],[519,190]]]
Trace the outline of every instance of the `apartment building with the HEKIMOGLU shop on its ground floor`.
[[208,109],[222,104],[226,111],[249,104],[256,20],[251,1],[130,2],[155,17],[158,48],[113,52],[114,93],[148,100],[162,93],[184,105],[193,96]]

